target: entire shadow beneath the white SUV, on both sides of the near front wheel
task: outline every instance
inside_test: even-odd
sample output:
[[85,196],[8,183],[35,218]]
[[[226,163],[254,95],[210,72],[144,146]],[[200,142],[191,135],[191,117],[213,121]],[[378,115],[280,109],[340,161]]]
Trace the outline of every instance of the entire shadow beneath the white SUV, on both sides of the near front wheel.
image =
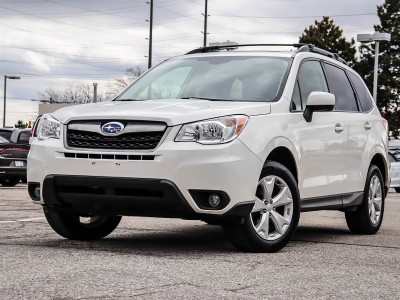
[[[345,229],[301,226],[298,228],[293,241],[327,242],[340,240],[351,233]],[[242,253],[227,239],[220,226],[196,225],[185,226],[179,230],[157,231],[121,229],[110,236],[97,241],[74,241],[62,238],[40,239],[36,245],[62,249],[79,249],[106,251],[113,253],[137,253],[149,256],[207,256],[216,253]],[[289,243],[289,247],[281,252],[291,251],[296,245]]]

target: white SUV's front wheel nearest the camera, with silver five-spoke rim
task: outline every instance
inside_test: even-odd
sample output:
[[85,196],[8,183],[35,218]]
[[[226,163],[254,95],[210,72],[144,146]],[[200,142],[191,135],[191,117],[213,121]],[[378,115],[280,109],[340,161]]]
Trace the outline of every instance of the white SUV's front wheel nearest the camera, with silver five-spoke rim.
[[267,161],[257,186],[253,211],[245,217],[224,220],[223,228],[232,244],[242,251],[277,252],[294,236],[299,218],[300,194],[296,179],[285,166]]

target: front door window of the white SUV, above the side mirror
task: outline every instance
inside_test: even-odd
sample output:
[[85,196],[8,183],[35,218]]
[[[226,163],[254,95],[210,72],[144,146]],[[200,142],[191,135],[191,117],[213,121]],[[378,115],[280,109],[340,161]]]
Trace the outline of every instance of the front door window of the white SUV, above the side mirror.
[[304,62],[300,67],[298,82],[302,108],[306,107],[307,98],[311,92],[328,92],[324,71],[319,61],[309,60]]

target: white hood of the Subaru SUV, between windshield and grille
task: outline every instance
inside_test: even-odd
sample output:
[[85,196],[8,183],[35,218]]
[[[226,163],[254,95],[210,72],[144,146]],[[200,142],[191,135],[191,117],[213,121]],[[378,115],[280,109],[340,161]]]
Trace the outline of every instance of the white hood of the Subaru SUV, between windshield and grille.
[[61,108],[52,116],[61,123],[72,120],[158,120],[169,126],[227,115],[269,114],[265,102],[208,100],[109,101]]

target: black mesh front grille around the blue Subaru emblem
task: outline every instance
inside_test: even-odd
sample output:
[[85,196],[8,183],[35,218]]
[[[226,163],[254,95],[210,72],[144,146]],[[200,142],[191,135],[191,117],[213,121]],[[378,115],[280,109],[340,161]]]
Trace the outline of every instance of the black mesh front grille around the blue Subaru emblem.
[[[75,127],[67,129],[67,145],[73,148],[86,148],[86,149],[110,149],[110,150],[151,150],[157,147],[160,143],[162,137],[164,136],[166,126],[156,125],[155,129],[158,131],[151,131],[153,125],[150,125],[147,128],[146,132],[127,132],[122,133],[118,136],[105,136],[100,133],[100,128],[103,124],[107,123],[106,121],[98,121],[98,122],[87,122],[91,127],[88,127],[90,131],[85,130],[76,130],[72,128],[77,128],[76,123]],[[127,123],[130,128],[137,125],[138,122],[135,123]],[[139,123],[139,126],[146,126],[143,123]],[[154,124],[154,122],[152,122]],[[161,123],[164,124],[164,123]],[[127,126],[126,125],[126,126]],[[79,129],[84,128],[85,123],[80,122],[78,127]],[[93,130],[95,128],[96,130]],[[159,129],[163,129],[160,131]],[[93,130],[93,131],[92,131]],[[140,130],[140,129],[139,129]],[[97,132],[94,132],[97,131]]]

